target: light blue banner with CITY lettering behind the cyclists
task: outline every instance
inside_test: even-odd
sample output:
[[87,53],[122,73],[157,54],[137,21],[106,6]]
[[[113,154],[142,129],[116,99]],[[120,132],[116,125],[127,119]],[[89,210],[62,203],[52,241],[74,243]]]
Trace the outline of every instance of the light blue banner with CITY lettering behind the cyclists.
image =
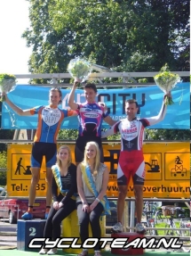
[[[39,87],[29,85],[18,85],[8,94],[12,103],[21,109],[31,109],[39,105],[49,104],[50,87]],[[61,89],[62,106],[68,108],[68,95],[70,89]],[[171,91],[174,104],[168,106],[165,119],[150,128],[178,128],[190,129],[190,83],[179,83]],[[163,101],[163,92],[157,86],[119,88],[119,89],[99,89],[96,100],[107,103],[110,116],[114,120],[125,118],[125,100],[134,98],[139,104],[138,118],[152,117],[158,114]],[[75,95],[76,103],[84,103],[84,90],[77,89]],[[36,129],[37,115],[23,117],[12,111],[3,103],[2,128],[4,129]],[[77,118],[69,117],[64,119],[61,128],[77,128]],[[107,128],[103,122],[103,128]]]

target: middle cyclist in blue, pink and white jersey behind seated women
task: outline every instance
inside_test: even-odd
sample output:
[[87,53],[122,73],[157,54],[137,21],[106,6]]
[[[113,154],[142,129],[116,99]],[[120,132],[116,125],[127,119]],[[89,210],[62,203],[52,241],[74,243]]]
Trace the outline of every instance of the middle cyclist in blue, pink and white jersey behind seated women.
[[103,162],[103,149],[101,145],[101,124],[104,120],[110,126],[115,124],[107,113],[104,105],[95,102],[97,88],[94,84],[84,86],[85,103],[75,103],[75,91],[78,81],[75,81],[68,97],[68,105],[78,113],[79,129],[76,140],[76,165],[84,160],[84,149],[87,142],[94,141],[99,145],[100,161]]

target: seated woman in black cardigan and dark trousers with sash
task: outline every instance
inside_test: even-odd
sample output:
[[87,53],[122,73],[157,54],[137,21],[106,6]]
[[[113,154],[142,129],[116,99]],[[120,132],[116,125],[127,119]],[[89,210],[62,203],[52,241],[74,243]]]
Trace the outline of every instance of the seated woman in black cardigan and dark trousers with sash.
[[[71,151],[67,145],[60,146],[57,162],[52,166],[53,204],[44,227],[44,237],[60,238],[60,223],[76,210],[76,165],[71,162]],[[41,249],[39,254],[53,255],[57,249]]]

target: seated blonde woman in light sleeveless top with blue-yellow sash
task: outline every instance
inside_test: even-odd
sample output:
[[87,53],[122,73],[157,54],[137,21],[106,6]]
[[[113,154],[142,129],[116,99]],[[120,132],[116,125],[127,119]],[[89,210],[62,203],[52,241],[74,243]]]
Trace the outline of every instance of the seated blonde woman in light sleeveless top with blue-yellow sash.
[[[77,166],[76,198],[77,216],[80,226],[82,244],[89,237],[89,223],[92,227],[92,237],[100,237],[99,219],[103,214],[110,214],[106,196],[108,169],[100,162],[99,145],[88,142],[85,146],[84,161]],[[99,244],[94,248],[95,256],[100,256]],[[86,256],[84,248],[78,256]]]

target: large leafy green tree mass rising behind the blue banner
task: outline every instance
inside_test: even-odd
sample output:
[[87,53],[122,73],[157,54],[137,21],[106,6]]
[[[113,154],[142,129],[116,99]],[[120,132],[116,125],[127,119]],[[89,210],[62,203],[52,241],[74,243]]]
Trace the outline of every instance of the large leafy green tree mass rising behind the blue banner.
[[29,2],[31,72],[66,72],[75,56],[117,71],[158,71],[165,62],[189,70],[188,0]]

